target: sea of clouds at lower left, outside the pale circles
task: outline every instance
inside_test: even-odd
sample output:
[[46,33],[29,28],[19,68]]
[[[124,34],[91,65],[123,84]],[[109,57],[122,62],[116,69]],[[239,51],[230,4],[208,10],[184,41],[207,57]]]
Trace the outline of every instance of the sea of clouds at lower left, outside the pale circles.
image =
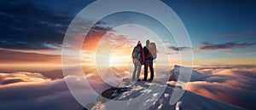
[[[77,83],[76,78],[67,78]],[[0,94],[0,107],[6,110],[83,109],[67,89],[63,78],[52,80],[38,72],[0,73]],[[87,96],[84,100],[95,99]]]

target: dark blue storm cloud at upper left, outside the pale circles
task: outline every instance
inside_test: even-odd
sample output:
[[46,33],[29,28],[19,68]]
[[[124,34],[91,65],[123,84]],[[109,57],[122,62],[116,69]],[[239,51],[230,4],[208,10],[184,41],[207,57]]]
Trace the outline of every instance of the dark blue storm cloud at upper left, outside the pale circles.
[[55,1],[58,6],[40,1],[0,2],[0,48],[52,49],[47,44],[60,47],[74,15],[88,3],[76,2]]

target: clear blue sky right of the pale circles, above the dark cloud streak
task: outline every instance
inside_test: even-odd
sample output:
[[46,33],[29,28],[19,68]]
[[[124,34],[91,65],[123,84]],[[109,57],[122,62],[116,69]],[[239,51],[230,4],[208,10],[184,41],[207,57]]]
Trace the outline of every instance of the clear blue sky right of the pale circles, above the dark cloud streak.
[[[253,2],[226,0],[166,3],[183,20],[194,44],[202,41],[223,43],[256,40],[256,9]],[[253,35],[247,35],[247,32],[253,32]],[[241,35],[218,37],[218,34],[229,33]]]

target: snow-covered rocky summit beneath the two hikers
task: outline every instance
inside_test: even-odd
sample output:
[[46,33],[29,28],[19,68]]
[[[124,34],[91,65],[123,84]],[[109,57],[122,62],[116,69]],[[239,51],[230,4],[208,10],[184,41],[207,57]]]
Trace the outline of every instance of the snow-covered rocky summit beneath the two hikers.
[[[163,94],[160,94],[159,90],[162,88],[166,88],[166,90],[163,91]],[[171,84],[144,81],[134,84],[134,82],[124,80],[118,87],[105,90],[102,96],[112,101],[125,101],[127,102],[125,105],[118,105],[117,103],[109,107],[108,100],[102,96],[99,96],[96,102],[90,103],[89,105],[92,110],[243,110],[241,107],[232,106],[221,101],[214,101],[189,91],[185,91],[175,105],[170,105],[169,101],[172,92],[175,90],[174,88],[175,85]],[[182,88],[178,89],[182,90]],[[134,100],[137,96],[143,96],[144,98]],[[145,108],[145,106],[148,107]]]

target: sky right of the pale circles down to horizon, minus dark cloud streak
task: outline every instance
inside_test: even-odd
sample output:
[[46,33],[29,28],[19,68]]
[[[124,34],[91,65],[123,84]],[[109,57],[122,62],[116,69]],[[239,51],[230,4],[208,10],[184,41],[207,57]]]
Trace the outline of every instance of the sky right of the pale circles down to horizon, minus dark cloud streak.
[[[256,9],[253,6],[255,3],[252,1],[164,2],[183,20],[195,48],[200,47],[202,42],[216,44],[255,43],[256,41]],[[252,45],[248,48],[201,52],[195,54],[195,60],[206,58],[222,61],[222,59],[230,59],[238,60],[236,63],[243,64],[245,62],[242,62],[241,59],[255,61],[254,54],[252,54],[254,52],[255,45]]]

